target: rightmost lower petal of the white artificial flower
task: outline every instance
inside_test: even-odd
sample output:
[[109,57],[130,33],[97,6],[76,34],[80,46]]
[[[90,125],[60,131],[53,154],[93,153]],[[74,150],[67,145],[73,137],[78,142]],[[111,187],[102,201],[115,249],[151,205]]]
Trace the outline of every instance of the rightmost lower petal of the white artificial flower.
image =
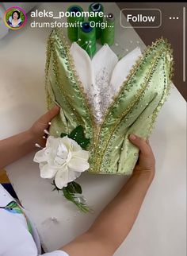
[[89,169],[90,165],[87,161],[84,161],[80,158],[71,158],[71,161],[69,161],[67,168],[69,172],[74,171],[82,173]]

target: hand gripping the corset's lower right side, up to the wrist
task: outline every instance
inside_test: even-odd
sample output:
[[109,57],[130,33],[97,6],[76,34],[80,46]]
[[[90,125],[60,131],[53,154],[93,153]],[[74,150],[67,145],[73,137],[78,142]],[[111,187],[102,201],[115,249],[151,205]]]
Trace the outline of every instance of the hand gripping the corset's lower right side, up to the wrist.
[[155,157],[149,142],[139,138],[135,134],[129,136],[130,142],[139,148],[139,160],[137,161],[134,173],[150,173],[155,175]]

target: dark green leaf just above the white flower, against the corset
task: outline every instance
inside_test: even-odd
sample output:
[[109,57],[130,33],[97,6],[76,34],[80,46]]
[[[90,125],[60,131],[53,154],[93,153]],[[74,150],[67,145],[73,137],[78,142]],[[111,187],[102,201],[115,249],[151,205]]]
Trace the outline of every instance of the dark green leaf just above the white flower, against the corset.
[[74,130],[71,131],[71,134],[68,137],[77,142],[78,145],[82,147],[82,149],[86,149],[86,146],[90,143],[90,138],[85,137],[82,126],[77,126]]

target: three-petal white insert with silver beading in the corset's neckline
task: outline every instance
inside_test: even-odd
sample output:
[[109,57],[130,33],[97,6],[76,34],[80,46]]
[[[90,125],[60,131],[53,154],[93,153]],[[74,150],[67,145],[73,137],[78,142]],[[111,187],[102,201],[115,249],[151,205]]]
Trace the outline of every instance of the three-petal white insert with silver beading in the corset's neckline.
[[119,91],[135,61],[141,55],[140,48],[135,48],[119,62],[109,45],[102,46],[92,60],[77,43],[71,45],[70,52],[75,69],[88,95],[95,121],[99,123],[113,101],[113,96]]

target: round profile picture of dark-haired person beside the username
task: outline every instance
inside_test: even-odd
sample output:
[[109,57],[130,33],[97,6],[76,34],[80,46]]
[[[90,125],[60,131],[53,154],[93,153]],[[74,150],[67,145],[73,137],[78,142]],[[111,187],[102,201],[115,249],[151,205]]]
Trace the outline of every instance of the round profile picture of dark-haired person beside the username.
[[27,21],[25,10],[18,6],[10,7],[6,10],[4,21],[6,26],[10,29],[21,29],[25,26]]

